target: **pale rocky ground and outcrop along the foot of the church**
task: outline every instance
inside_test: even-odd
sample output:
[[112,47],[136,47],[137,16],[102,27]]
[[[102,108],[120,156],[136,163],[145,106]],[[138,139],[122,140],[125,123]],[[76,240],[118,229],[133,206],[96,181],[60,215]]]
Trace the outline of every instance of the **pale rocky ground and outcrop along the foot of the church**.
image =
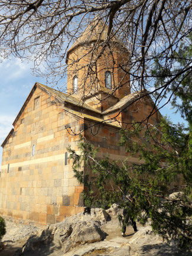
[[[149,225],[142,227],[137,223],[138,232],[135,234],[132,226],[129,226],[127,235],[122,237],[117,218],[119,214],[122,214],[122,210],[114,204],[106,211],[91,209],[90,215],[79,213],[43,229],[32,225],[16,228],[14,223],[9,223],[7,241],[3,242],[11,242],[12,246],[22,235],[26,241],[31,234],[14,256],[192,256],[192,248],[182,251],[175,241],[167,244],[161,236],[152,232]],[[10,238],[11,241],[8,240]],[[2,251],[6,252],[6,248]],[[3,255],[6,256],[6,253]]]

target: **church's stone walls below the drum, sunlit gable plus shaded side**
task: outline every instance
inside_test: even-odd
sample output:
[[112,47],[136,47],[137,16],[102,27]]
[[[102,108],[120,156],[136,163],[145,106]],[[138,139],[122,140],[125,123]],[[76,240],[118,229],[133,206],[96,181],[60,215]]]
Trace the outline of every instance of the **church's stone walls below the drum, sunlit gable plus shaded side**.
[[[100,148],[99,157],[108,154],[121,162],[129,154],[124,147],[118,147],[119,124],[128,128],[132,121],[148,116],[152,108],[152,102],[144,99],[125,111],[116,110],[96,118],[94,113],[88,115],[77,106],[64,105],[50,93],[34,87],[4,143],[0,214],[47,224],[82,212],[83,186],[73,177],[72,161],[66,158],[67,147],[79,150],[76,134],[81,131]],[[115,121],[103,124],[101,118]],[[156,124],[159,120],[157,112],[149,122]],[[138,163],[138,158],[135,155],[129,161]]]

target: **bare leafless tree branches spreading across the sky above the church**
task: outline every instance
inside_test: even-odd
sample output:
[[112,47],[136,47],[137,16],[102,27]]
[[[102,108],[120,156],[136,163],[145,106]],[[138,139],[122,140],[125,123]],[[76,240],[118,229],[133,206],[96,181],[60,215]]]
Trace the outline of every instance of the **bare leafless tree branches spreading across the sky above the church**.
[[[106,25],[108,31],[102,43],[97,40],[90,49],[92,57],[86,63],[87,75],[94,74],[92,83],[99,81],[96,63],[100,55],[106,48],[110,51],[110,42],[118,38],[122,48],[128,49],[129,57],[123,64],[116,63],[116,69],[130,74],[132,90],[156,93],[155,103],[161,108],[161,97],[171,83],[177,81],[179,88],[183,78],[178,77],[191,73],[191,60],[187,58],[182,69],[174,69],[178,63],[175,50],[187,42],[191,33],[191,7],[187,0],[1,0],[1,57],[13,54],[32,60],[35,73],[57,85],[66,76],[67,50],[71,44],[93,20],[95,25],[102,22],[98,38]],[[157,60],[167,73],[153,72]],[[154,88],[157,77],[163,82]]]

